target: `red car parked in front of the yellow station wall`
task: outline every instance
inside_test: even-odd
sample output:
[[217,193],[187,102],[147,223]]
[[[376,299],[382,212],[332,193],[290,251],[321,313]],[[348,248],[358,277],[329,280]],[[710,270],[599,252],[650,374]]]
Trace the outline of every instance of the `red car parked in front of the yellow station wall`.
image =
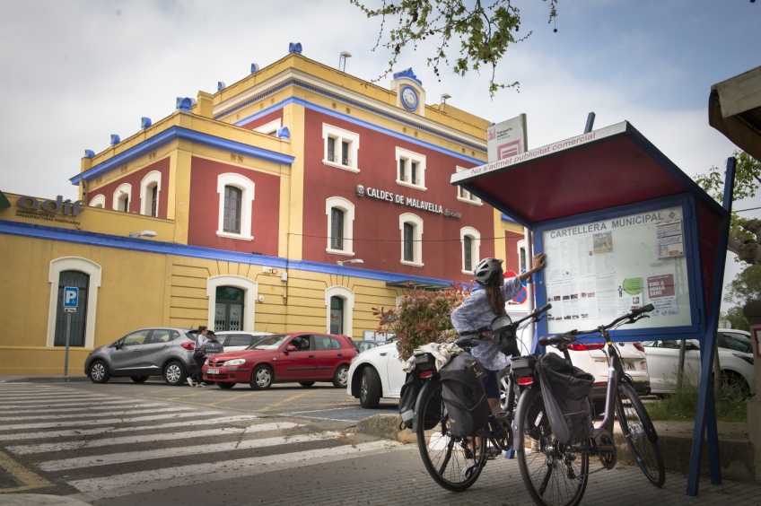
[[245,350],[219,353],[204,364],[204,379],[219,388],[248,383],[255,390],[273,383],[299,382],[311,387],[315,381],[332,381],[346,388],[349,364],[356,356],[348,336],[292,332],[267,336]]

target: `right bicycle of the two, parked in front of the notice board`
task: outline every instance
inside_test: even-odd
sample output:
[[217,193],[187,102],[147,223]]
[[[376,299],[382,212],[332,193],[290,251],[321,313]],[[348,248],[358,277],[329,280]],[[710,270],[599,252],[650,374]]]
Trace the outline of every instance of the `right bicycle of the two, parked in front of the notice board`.
[[[643,474],[655,486],[666,480],[663,458],[658,446],[658,434],[650,416],[634,392],[632,380],[626,376],[617,348],[610,341],[609,330],[632,324],[652,304],[631,310],[608,325],[593,330],[573,330],[561,335],[542,336],[540,345],[553,345],[571,363],[568,345],[579,335],[601,336],[608,345],[608,390],[602,422],[591,430],[589,439],[580,443],[563,444],[554,437],[545,409],[540,379],[533,363],[527,361],[523,373],[533,379],[532,386],[520,396],[515,413],[515,452],[520,476],[534,502],[547,506],[573,506],[582,501],[588,476],[603,469],[612,469],[617,462],[617,447],[613,440],[613,420],[617,417],[625,440]],[[539,360],[539,357],[525,357]],[[614,414],[615,411],[615,414]],[[601,469],[590,471],[590,456],[597,456]]]

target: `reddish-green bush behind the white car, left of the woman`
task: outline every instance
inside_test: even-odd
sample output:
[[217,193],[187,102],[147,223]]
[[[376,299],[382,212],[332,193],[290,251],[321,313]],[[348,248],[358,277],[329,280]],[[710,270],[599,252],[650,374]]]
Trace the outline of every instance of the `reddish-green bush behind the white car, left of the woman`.
[[427,343],[446,343],[458,334],[451,324],[451,312],[470,294],[470,286],[452,284],[445,290],[428,292],[412,286],[405,288],[399,307],[372,308],[378,317],[379,332],[393,332],[402,360],[412,356],[415,348]]

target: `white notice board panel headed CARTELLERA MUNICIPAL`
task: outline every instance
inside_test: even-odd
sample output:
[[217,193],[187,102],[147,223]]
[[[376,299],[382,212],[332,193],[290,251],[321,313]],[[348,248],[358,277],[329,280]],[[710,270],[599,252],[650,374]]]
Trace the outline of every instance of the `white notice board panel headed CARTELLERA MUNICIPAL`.
[[547,332],[591,329],[629,310],[655,307],[637,331],[694,327],[691,244],[680,204],[630,208],[608,216],[538,227],[544,269]]

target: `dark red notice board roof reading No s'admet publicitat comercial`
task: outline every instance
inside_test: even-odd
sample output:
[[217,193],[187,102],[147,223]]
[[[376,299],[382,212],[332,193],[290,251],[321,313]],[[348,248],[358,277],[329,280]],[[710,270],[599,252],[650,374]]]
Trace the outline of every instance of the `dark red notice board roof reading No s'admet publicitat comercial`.
[[462,170],[451,183],[529,228],[685,193],[721,220],[727,215],[627,121]]

